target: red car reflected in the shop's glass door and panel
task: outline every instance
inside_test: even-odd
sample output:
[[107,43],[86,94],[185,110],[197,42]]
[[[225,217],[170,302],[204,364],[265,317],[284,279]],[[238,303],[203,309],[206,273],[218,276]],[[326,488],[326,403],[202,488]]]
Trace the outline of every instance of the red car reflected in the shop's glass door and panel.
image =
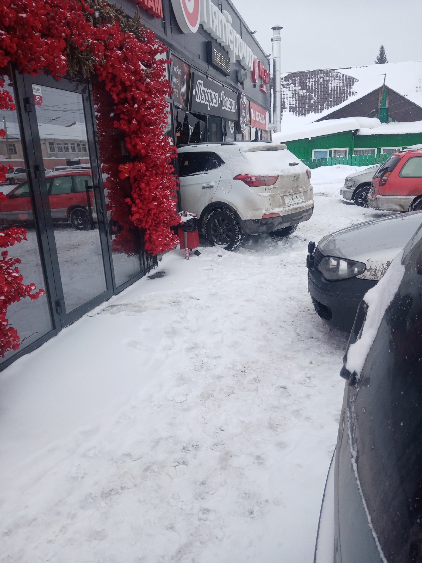
[[[96,217],[91,171],[59,172],[46,176],[46,180],[53,221],[69,221],[77,230],[89,229],[92,217]],[[33,220],[28,182],[17,185],[6,198],[0,202],[3,225]]]

